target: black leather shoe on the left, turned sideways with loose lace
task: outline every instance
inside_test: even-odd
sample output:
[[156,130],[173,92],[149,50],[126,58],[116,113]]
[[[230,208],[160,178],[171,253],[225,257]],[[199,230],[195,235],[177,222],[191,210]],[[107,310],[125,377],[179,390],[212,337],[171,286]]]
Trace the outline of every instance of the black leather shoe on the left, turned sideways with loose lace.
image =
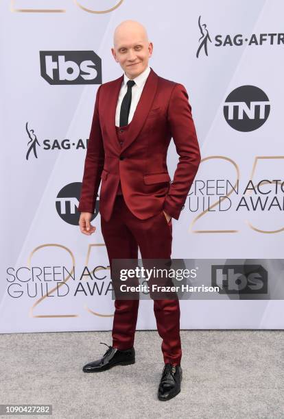
[[130,365],[135,362],[135,351],[134,347],[121,351],[120,349],[109,346],[104,342],[100,342],[108,346],[108,350],[104,353],[104,356],[97,361],[90,362],[84,365],[84,372],[100,372],[106,371],[116,365]]

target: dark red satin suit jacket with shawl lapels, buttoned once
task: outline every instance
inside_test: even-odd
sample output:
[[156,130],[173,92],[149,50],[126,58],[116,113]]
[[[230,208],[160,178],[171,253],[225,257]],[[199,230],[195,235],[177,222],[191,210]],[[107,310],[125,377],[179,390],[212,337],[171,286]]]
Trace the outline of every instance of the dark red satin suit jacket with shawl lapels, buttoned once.
[[[123,76],[97,90],[78,211],[95,212],[102,179],[99,212],[108,221],[120,179],[126,205],[134,216],[143,220],[164,210],[178,220],[200,164],[187,91],[151,68],[121,147],[115,110],[122,81]],[[179,155],[172,181],[167,170],[171,138]]]

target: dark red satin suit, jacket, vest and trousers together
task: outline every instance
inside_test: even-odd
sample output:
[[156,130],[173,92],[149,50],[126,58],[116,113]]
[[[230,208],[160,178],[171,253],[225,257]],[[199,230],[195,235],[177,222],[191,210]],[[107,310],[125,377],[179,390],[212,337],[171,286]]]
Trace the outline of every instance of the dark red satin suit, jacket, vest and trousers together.
[[[182,84],[159,77],[151,68],[131,123],[115,127],[123,76],[97,90],[84,165],[80,212],[99,212],[110,266],[113,258],[171,256],[171,221],[178,220],[200,164],[200,149],[188,95]],[[174,139],[179,162],[171,179],[167,149]],[[121,194],[122,191],[122,194]],[[113,346],[133,345],[139,301],[115,301]],[[155,300],[165,362],[180,364],[178,300]]]

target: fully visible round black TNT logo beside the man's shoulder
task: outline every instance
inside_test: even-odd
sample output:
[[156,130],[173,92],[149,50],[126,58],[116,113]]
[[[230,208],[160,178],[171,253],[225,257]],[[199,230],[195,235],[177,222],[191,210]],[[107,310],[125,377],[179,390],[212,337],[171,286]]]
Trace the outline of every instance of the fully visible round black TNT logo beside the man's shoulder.
[[230,92],[224,103],[224,117],[230,127],[248,132],[258,129],[270,114],[270,101],[256,86],[241,86]]

